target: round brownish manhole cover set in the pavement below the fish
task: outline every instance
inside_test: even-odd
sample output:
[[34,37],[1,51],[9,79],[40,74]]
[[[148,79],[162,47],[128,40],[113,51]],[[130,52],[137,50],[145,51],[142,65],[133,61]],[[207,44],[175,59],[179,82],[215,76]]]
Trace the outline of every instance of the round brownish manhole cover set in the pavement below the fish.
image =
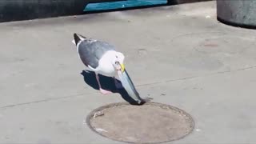
[[146,102],[142,106],[114,103],[93,110],[86,123],[106,138],[131,143],[170,142],[194,129],[190,114],[174,106]]

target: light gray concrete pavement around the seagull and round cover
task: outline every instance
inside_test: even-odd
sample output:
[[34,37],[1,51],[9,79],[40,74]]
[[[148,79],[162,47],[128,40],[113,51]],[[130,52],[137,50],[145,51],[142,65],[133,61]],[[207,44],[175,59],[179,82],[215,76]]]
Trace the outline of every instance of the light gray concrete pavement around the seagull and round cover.
[[117,46],[142,97],[192,115],[194,132],[172,143],[256,142],[255,30],[219,23],[215,2],[7,22],[0,31],[0,143],[113,142],[84,120],[124,100],[86,84],[74,32]]

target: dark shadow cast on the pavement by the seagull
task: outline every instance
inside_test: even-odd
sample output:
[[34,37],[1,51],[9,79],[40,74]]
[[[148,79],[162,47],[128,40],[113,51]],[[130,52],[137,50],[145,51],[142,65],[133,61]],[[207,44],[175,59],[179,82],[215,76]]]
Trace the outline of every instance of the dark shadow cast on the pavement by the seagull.
[[[84,81],[86,82],[87,85],[91,86],[94,88],[94,90],[99,90],[98,83],[95,77],[95,73],[90,70],[82,70],[82,76]],[[122,98],[126,101],[129,102],[131,105],[138,105],[136,101],[134,101],[133,98],[129,96],[129,94],[126,92],[124,88],[122,89],[117,89],[115,84],[114,84],[114,78],[106,77],[104,75],[99,74],[99,81],[101,82],[102,89],[104,90],[110,90],[113,93],[118,93],[122,96]],[[117,81],[121,83],[118,79]],[[142,102],[140,105],[144,104],[145,102]]]

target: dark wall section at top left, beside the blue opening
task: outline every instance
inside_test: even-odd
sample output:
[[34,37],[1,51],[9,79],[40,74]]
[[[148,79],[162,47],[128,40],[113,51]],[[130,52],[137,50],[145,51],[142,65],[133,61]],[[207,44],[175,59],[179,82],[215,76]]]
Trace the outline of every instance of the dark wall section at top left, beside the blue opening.
[[0,0],[0,22],[81,14],[85,0]]

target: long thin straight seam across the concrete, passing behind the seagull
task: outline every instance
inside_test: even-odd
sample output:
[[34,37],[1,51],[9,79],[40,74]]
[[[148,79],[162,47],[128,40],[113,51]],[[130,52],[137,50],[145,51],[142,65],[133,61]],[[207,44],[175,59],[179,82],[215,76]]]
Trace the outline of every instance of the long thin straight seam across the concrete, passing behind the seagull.
[[[140,84],[137,85],[138,87],[140,86],[150,86],[150,85],[156,85],[156,84],[161,84],[161,83],[165,83],[165,82],[176,82],[176,81],[182,81],[182,80],[187,80],[187,79],[194,79],[194,78],[205,78],[205,77],[209,77],[209,76],[213,76],[213,75],[217,75],[217,74],[226,74],[226,73],[231,73],[231,72],[236,72],[236,71],[242,71],[242,70],[251,70],[256,68],[256,66],[250,66],[250,67],[245,67],[245,68],[240,68],[237,70],[226,70],[226,71],[219,71],[216,73],[212,73],[212,74],[204,74],[204,75],[198,75],[198,76],[191,76],[191,77],[185,77],[185,78],[178,78],[178,79],[169,79],[166,81],[162,81],[162,82],[151,82],[151,83],[145,83],[145,84]],[[34,102],[23,102],[23,103],[17,103],[17,104],[13,104],[13,105],[7,105],[7,106],[2,106],[0,107],[0,109],[6,109],[6,108],[10,108],[10,107],[14,107],[14,106],[24,106],[24,105],[30,105],[30,104],[34,104],[34,103],[40,103],[40,102],[52,102],[52,101],[58,101],[60,99],[66,99],[66,98],[76,98],[79,97],[82,94],[74,94],[74,95],[69,95],[69,96],[65,96],[65,97],[61,97],[61,98],[48,98],[48,99],[43,99],[43,100],[38,100],[38,101],[34,101]],[[93,93],[94,94],[94,93]]]

